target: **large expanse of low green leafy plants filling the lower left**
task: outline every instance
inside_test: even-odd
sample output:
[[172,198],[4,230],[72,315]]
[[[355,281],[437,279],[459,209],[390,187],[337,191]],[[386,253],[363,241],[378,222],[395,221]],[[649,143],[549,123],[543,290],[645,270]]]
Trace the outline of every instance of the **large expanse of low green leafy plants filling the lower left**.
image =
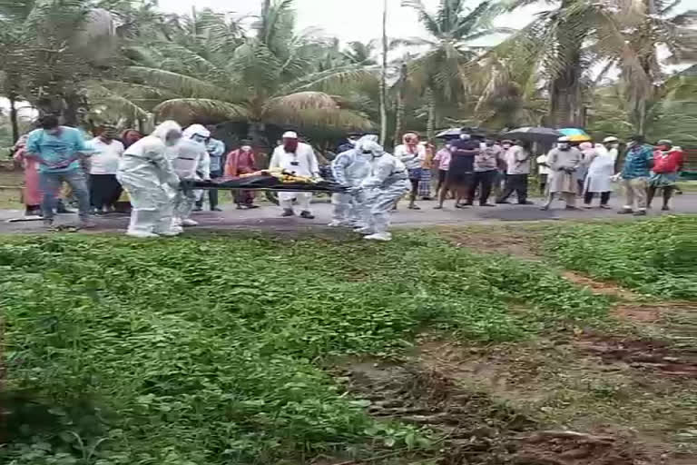
[[419,233],[385,245],[13,238],[0,246],[0,306],[12,396],[0,458],[13,465],[423,445],[423,432],[371,420],[319,361],[398,354],[427,326],[512,341],[607,310],[541,264]]

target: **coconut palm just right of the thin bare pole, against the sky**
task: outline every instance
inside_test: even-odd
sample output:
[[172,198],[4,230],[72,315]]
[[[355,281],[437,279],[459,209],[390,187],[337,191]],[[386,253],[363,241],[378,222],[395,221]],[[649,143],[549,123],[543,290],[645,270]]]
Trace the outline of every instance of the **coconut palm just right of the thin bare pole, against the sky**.
[[470,90],[467,68],[481,50],[473,46],[487,35],[508,34],[510,29],[494,27],[494,18],[501,12],[496,2],[486,0],[467,8],[466,0],[440,0],[435,12],[428,11],[421,0],[404,0],[402,5],[414,8],[427,38],[399,41],[401,45],[425,48],[426,52],[408,64],[408,79],[427,96],[427,133],[433,138],[440,107],[456,106],[466,99]]

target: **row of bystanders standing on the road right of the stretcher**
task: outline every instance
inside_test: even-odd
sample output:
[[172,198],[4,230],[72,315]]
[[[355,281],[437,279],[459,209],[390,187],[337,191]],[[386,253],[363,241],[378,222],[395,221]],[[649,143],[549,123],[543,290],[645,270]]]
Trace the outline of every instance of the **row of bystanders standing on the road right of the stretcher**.
[[[419,209],[417,197],[431,198],[432,173],[437,174],[437,209],[450,198],[456,208],[472,206],[476,200],[479,206],[494,207],[509,203],[514,194],[518,204],[532,204],[528,190],[535,163],[539,191],[545,197],[543,210],[549,210],[555,198],[563,200],[566,209],[576,210],[577,197],[583,199],[585,208],[592,208],[594,198],[599,197],[599,208],[609,209],[614,185],[620,182],[626,202],[619,213],[645,215],[658,191],[663,193],[663,210],[670,210],[682,169],[682,149],[668,140],[650,145],[643,136],[634,136],[616,173],[622,146],[613,136],[603,143],[574,143],[560,137],[552,150],[535,157],[531,142],[462,134],[434,154],[432,145],[420,143],[417,134],[408,133],[395,148],[395,156],[407,167],[409,209]],[[492,193],[495,203],[489,202]]]

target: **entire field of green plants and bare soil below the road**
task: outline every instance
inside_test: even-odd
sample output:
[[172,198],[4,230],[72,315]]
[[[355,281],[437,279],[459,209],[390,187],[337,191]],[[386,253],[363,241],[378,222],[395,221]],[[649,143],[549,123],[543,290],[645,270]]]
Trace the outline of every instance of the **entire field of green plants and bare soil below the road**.
[[[697,223],[676,221],[642,228]],[[585,230],[548,228],[415,232],[368,245],[6,237],[0,458],[565,464],[576,450],[587,460],[574,465],[694,459],[697,361],[672,330],[692,328],[694,309],[564,277],[568,266],[623,281],[621,267],[601,273],[559,259]],[[475,253],[454,245],[456,233],[470,243],[500,237],[522,253]],[[683,245],[656,247],[679,257]],[[614,261],[669,268],[639,258]],[[661,305],[655,318],[635,318]]]

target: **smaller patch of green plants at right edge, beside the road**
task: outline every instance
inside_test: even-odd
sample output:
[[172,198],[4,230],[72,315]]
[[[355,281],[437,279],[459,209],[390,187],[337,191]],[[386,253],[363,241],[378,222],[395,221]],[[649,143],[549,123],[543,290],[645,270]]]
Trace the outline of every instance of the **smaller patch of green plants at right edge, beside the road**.
[[549,234],[564,267],[663,298],[697,299],[697,216],[587,224]]

